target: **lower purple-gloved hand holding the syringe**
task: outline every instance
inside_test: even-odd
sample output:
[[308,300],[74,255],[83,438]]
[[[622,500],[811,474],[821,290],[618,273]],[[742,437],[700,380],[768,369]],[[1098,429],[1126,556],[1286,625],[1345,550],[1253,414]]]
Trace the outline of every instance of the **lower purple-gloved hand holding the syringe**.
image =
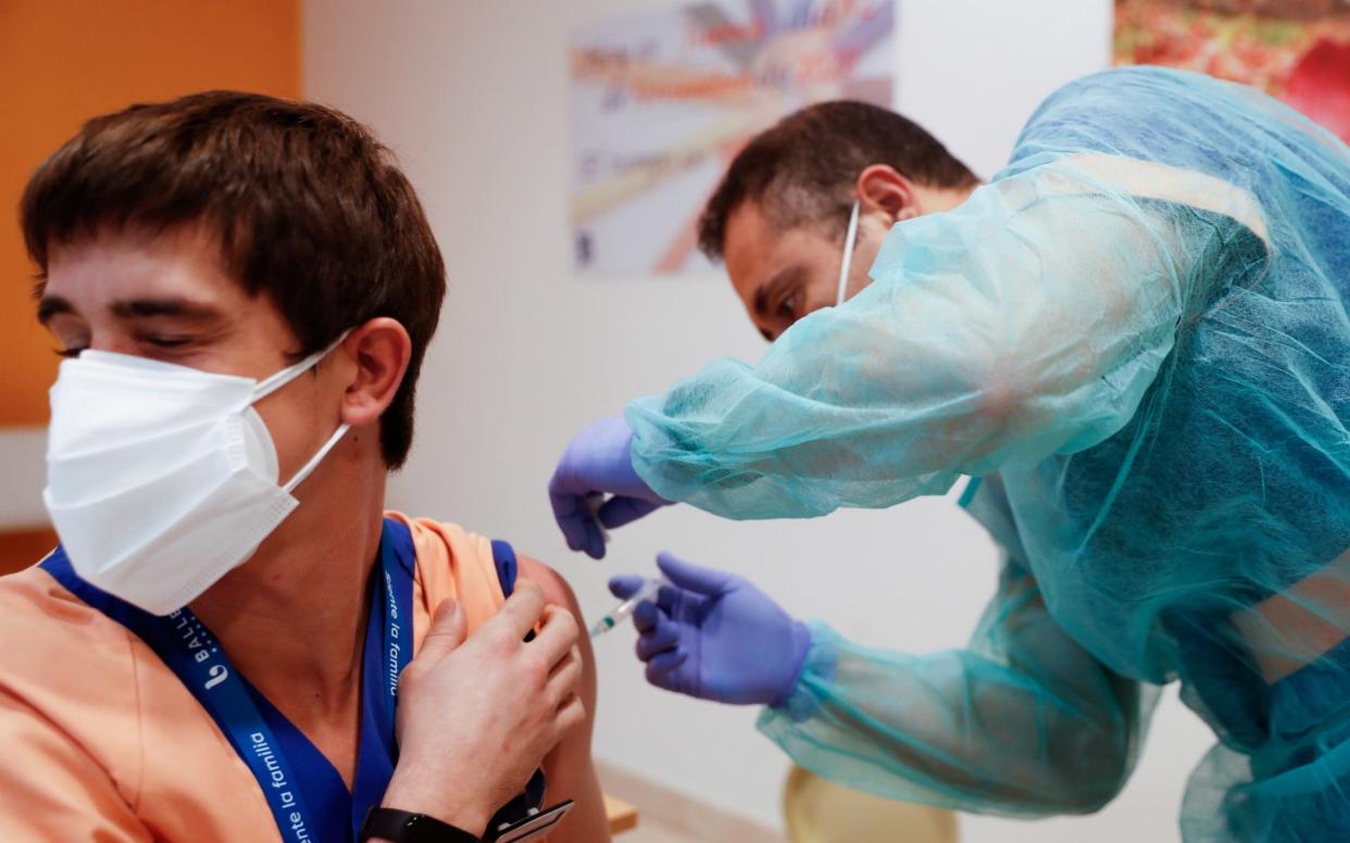
[[[811,633],[748,580],[680,561],[656,558],[670,585],[656,603],[639,603],[637,658],[657,688],[720,703],[787,701],[802,673]],[[644,580],[618,576],[614,596],[628,599]]]

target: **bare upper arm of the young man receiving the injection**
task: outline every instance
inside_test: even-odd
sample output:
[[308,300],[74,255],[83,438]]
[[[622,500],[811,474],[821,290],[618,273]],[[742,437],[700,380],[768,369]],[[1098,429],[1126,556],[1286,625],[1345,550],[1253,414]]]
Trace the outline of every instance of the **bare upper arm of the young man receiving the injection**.
[[576,595],[562,576],[548,565],[528,556],[518,557],[520,576],[536,583],[544,591],[544,599],[551,606],[566,608],[576,618],[580,637],[576,649],[582,660],[582,678],[578,688],[582,704],[586,707],[586,720],[544,758],[544,777],[548,780],[545,805],[572,800],[571,813],[549,836],[556,843],[585,842],[603,843],[609,840],[609,820],[605,815],[605,798],[595,777],[591,761],[591,734],[595,724],[595,656],[586,624],[576,603]]

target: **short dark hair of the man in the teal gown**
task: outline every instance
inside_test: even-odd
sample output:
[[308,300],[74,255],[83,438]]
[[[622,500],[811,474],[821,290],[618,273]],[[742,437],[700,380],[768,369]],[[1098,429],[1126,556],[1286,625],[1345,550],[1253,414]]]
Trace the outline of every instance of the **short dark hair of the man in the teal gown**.
[[842,233],[853,185],[871,165],[890,165],[930,187],[968,187],[979,179],[933,135],[900,115],[867,103],[810,105],[760,132],[732,161],[698,220],[698,247],[717,260],[726,220],[759,202],[782,228],[822,225]]

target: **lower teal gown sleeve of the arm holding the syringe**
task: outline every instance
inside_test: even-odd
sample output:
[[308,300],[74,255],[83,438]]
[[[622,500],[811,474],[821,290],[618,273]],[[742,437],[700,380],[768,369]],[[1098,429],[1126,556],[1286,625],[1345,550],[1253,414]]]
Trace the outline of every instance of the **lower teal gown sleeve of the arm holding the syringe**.
[[1050,618],[996,477],[975,503],[1006,557],[969,646],[910,656],[815,622],[801,678],[759,728],[796,763],[888,798],[1023,817],[1095,811],[1129,778],[1158,689],[1114,673]]

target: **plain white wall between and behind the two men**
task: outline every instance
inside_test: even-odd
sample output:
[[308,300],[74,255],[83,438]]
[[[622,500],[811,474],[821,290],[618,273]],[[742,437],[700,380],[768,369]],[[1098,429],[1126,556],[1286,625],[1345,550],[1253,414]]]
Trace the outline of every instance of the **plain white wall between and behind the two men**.
[[[616,533],[609,557],[570,553],[544,486],[568,437],[703,361],[763,343],[717,274],[578,281],[567,231],[568,30],[637,0],[312,0],[306,93],[369,121],[402,158],[432,217],[451,295],[420,390],[418,440],[393,503],[510,538],[556,565],[583,610],[608,576],[656,550],[745,573],[802,616],[859,641],[960,646],[992,592],[995,554],[950,500],[824,521],[732,523],[675,507]],[[899,103],[980,174],[1058,84],[1103,67],[1108,0],[907,0]],[[595,751],[605,761],[768,824],[787,763],[756,712],[648,688],[632,633],[598,642]],[[965,819],[969,842],[1176,839],[1181,782],[1204,730],[1173,699],[1126,794],[1088,819]]]

